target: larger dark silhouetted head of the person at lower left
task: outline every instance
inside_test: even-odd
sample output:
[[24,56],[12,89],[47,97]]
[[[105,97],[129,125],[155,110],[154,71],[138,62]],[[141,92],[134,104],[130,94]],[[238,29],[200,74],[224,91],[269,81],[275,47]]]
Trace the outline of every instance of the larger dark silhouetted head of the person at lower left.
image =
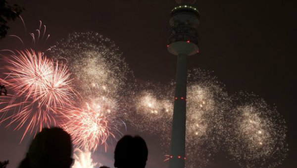
[[33,139],[19,168],[70,168],[71,157],[70,135],[58,127],[43,128]]

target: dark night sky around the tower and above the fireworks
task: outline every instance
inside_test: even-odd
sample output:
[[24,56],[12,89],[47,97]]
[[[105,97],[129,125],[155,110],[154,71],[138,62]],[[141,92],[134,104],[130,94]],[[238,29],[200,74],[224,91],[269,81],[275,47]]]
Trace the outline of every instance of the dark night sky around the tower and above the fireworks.
[[[99,32],[116,43],[136,78],[161,83],[175,78],[176,56],[166,49],[169,12],[174,0],[10,2],[26,8],[22,16],[28,30],[34,30],[38,20],[47,25],[51,34],[49,44],[74,31]],[[294,0],[198,0],[196,6],[201,15],[200,53],[189,57],[189,69],[214,71],[229,93],[253,92],[269,105],[277,106],[287,121],[290,149],[280,167],[297,167],[297,3]],[[9,25],[11,34],[23,30],[19,20]],[[0,49],[13,45],[7,38],[0,41]],[[11,128],[3,127],[0,126],[0,160],[10,159],[9,167],[15,167],[24,156],[29,139],[18,146],[21,131],[12,132]],[[155,152],[150,155],[148,166],[161,167],[163,157],[158,154],[161,150],[153,143],[148,145]],[[8,155],[10,158],[6,158]]]

